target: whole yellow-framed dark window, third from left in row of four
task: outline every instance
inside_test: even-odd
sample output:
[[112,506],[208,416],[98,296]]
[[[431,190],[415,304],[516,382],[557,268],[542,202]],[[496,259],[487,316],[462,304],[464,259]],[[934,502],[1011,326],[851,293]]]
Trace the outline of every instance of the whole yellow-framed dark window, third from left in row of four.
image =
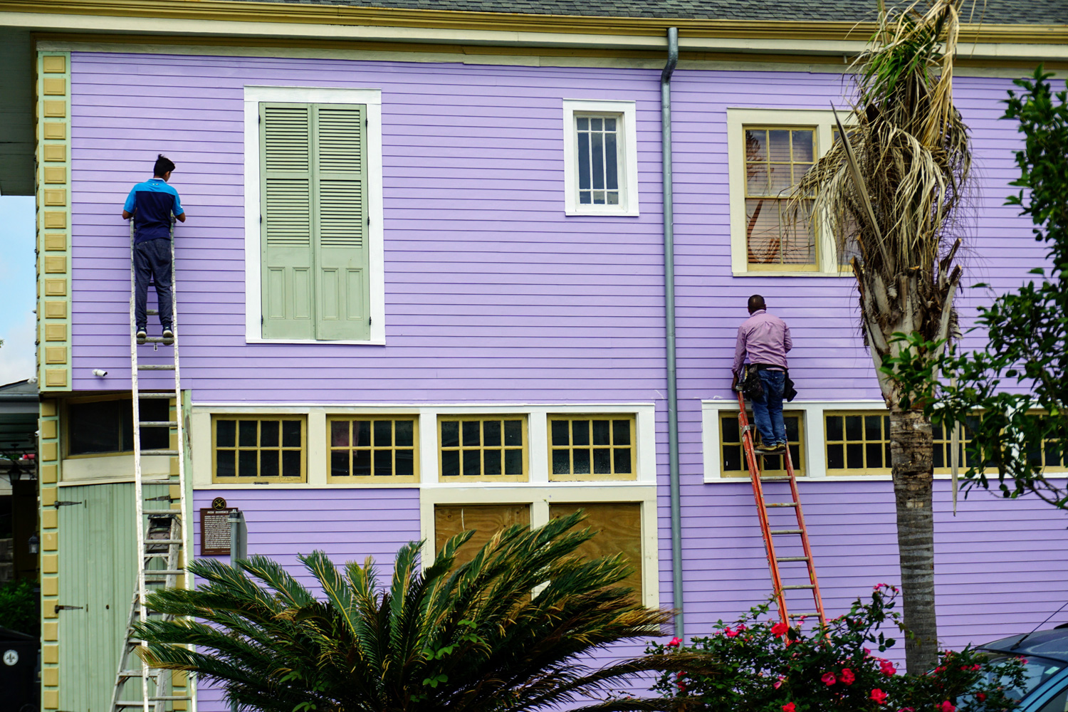
[[527,480],[525,415],[442,415],[438,442],[443,481]]

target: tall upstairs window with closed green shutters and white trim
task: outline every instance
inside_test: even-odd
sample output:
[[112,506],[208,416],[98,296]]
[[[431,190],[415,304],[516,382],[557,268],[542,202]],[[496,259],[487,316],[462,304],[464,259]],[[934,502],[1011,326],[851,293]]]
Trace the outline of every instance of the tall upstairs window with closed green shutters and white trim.
[[248,341],[381,341],[378,96],[246,88]]

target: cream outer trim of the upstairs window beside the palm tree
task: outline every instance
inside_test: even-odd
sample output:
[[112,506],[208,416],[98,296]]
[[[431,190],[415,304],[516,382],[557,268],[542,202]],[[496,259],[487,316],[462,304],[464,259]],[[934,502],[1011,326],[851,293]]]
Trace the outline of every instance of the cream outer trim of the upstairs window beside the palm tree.
[[[851,110],[837,108],[838,117],[846,121]],[[816,158],[831,146],[834,112],[811,109],[727,109],[727,176],[731,195],[731,269],[735,276],[852,276],[838,269],[834,254],[834,238],[824,224],[819,225],[818,270],[750,270],[745,244],[745,138],[742,126],[816,126]]]

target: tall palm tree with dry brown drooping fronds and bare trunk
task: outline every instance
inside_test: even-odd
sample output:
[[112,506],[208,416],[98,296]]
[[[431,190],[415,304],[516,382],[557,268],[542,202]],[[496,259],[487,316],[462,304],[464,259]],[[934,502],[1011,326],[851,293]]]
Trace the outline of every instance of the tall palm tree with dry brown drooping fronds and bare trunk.
[[851,122],[838,125],[847,140],[795,192],[798,202],[815,193],[816,212],[839,236],[838,249],[859,254],[852,269],[862,329],[890,409],[910,673],[937,660],[931,425],[880,369],[888,359],[931,362],[956,332],[955,228],[971,169],[968,127],[953,104],[962,1],[880,12],[879,31],[853,65]]

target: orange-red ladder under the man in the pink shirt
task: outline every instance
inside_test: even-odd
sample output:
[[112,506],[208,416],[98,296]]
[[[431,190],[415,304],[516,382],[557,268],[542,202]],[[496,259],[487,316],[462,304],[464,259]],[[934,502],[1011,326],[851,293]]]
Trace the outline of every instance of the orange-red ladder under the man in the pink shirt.
[[[778,506],[794,508],[794,512],[797,516],[798,528],[794,531],[783,529],[780,533],[798,534],[801,537],[801,548],[804,552],[804,556],[800,558],[805,561],[808,573],[808,584],[804,586],[783,585],[782,572],[779,569],[779,557],[775,555],[773,532],[768,518],[768,508],[771,505],[768,505],[764,497],[764,486],[760,481],[760,468],[757,462],[756,452],[753,448],[752,427],[749,424],[749,417],[745,413],[745,398],[740,391],[738,392],[738,425],[741,430],[742,450],[745,453],[745,464],[749,469],[750,480],[753,485],[753,497],[756,501],[757,517],[760,522],[760,534],[764,538],[765,552],[768,556],[768,570],[771,572],[771,584],[774,589],[775,603],[779,606],[780,619],[787,626],[790,624],[790,614],[786,606],[786,590],[810,589],[812,590],[813,600],[816,606],[816,615],[819,617],[819,623],[820,626],[824,626],[827,623],[827,617],[823,613],[823,599],[819,592],[819,583],[816,577],[816,565],[812,554],[812,547],[808,542],[808,528],[805,525],[804,513],[801,507],[801,495],[798,490],[797,476],[794,472],[790,448],[787,446],[786,452],[783,454],[783,461],[786,466],[786,477],[783,477],[782,479],[784,481],[789,481],[792,502],[788,504],[778,504]],[[784,558],[784,560],[797,560],[797,558],[798,557],[791,556]]]

